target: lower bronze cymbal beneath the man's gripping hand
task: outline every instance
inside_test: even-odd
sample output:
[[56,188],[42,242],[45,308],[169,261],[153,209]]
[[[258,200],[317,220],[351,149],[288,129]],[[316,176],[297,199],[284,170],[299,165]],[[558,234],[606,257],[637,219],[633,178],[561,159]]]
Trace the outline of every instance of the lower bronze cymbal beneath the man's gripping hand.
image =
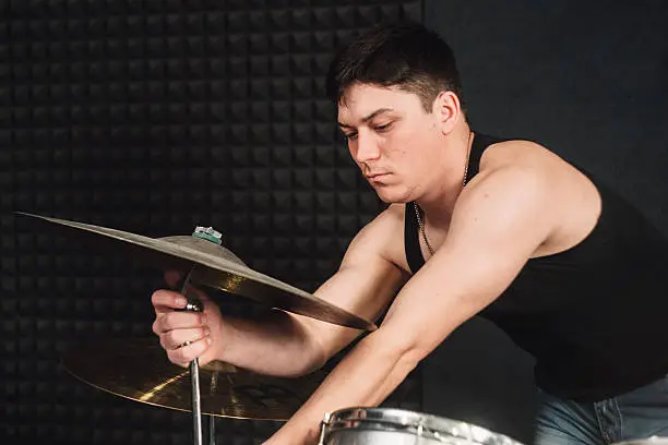
[[[164,408],[192,411],[190,373],[167,359],[159,340],[115,339],[91,342],[62,357],[76,378],[98,389]],[[200,366],[203,414],[287,420],[318,388],[326,374],[303,377],[261,375],[219,361]]]

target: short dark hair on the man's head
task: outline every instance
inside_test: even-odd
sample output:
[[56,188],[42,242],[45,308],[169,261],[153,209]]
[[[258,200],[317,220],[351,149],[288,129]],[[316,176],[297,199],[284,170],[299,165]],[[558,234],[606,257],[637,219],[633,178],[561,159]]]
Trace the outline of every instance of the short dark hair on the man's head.
[[338,104],[357,82],[414,93],[428,112],[442,91],[462,100],[452,49],[418,23],[380,25],[342,48],[330,64],[326,95]]

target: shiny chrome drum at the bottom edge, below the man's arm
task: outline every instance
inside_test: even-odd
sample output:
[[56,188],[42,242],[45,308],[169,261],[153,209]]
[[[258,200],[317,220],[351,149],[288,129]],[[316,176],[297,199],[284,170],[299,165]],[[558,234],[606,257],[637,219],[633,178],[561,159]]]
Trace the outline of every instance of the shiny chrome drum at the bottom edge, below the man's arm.
[[325,416],[319,445],[522,445],[456,420],[393,408],[347,408]]

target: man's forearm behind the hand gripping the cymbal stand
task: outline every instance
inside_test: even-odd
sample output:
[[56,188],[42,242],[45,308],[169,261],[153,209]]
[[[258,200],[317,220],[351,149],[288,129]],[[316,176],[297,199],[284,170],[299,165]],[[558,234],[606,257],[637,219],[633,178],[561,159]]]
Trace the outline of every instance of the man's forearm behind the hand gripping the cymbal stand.
[[322,364],[324,357],[298,318],[272,311],[261,320],[224,316],[219,360],[260,374],[298,376]]

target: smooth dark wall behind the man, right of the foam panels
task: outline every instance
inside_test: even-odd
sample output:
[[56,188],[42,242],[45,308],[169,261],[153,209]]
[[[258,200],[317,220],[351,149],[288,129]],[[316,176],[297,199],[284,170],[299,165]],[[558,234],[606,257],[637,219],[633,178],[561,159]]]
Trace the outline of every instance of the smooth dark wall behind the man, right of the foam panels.
[[[475,130],[542,143],[668,233],[668,3],[428,0],[425,23],[455,51]],[[473,320],[427,361],[424,409],[528,443],[532,366]]]

